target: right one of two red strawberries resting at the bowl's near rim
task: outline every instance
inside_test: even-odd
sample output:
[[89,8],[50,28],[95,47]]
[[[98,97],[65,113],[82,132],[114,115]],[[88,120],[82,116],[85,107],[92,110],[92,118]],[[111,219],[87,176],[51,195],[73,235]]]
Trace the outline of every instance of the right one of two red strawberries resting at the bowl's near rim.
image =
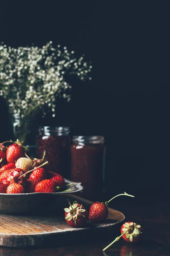
[[42,180],[36,185],[35,192],[54,193],[56,192],[55,183],[51,180]]

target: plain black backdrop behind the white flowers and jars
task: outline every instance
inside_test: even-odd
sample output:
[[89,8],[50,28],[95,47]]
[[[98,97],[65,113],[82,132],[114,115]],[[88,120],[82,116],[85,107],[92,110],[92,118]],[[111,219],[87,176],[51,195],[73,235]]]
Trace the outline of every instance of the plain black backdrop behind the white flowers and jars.
[[[71,134],[103,135],[107,192],[163,198],[168,193],[169,70],[166,1],[18,1],[1,6],[0,41],[18,47],[53,41],[92,61],[92,81],[71,81],[72,100],[56,117]],[[10,139],[0,99],[0,141]]]

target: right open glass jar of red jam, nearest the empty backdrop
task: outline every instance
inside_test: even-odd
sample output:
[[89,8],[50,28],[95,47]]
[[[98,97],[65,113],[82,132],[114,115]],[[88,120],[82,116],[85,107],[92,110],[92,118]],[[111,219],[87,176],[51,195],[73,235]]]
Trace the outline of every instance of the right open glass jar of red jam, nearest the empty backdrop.
[[85,198],[96,200],[102,197],[105,151],[102,136],[73,136],[71,180],[82,183],[81,195]]

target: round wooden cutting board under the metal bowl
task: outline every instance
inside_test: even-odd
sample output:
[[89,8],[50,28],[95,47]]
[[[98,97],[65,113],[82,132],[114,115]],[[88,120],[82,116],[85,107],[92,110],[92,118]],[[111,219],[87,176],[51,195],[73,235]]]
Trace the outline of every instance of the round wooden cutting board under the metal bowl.
[[45,247],[57,246],[61,241],[68,239],[74,242],[82,234],[94,236],[96,233],[108,230],[110,227],[123,221],[125,216],[122,212],[109,209],[109,215],[105,223],[87,223],[83,228],[72,228],[64,219],[63,208],[68,207],[67,198],[73,203],[77,200],[88,210],[93,203],[74,195],[61,195],[57,215],[7,215],[0,214],[0,246],[6,247]]

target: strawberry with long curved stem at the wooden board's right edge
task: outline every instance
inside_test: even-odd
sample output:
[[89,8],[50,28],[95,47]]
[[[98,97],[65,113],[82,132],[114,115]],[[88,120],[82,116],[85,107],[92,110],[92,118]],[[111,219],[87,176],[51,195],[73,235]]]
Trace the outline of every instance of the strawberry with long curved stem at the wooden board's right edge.
[[[128,195],[126,192],[120,195],[127,195],[127,196],[134,197],[133,195]],[[116,195],[115,197],[111,198],[111,200],[113,200],[118,196],[119,195]],[[108,218],[108,204],[111,200],[106,201],[105,203],[96,202],[92,204],[89,209],[89,215],[88,215],[89,220],[94,223],[105,221]]]

